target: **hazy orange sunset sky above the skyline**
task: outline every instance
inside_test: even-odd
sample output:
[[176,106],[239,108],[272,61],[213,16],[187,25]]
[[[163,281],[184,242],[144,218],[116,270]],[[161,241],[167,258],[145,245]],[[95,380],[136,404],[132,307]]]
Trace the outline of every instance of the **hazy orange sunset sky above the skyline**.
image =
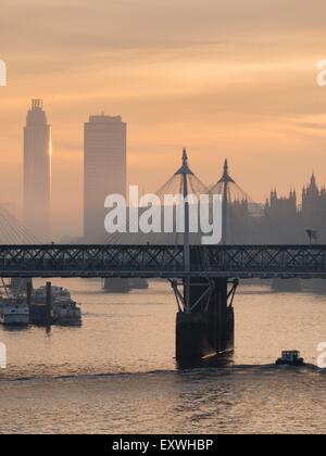
[[52,125],[55,236],[82,232],[83,124],[128,124],[128,181],[154,191],[187,147],[205,183],[253,200],[326,183],[325,0],[2,0],[0,202],[22,198],[32,98]]

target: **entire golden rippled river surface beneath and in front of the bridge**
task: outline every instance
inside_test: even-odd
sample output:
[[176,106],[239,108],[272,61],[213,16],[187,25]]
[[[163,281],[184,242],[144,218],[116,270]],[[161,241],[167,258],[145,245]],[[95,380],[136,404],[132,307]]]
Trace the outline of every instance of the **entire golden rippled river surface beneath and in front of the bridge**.
[[273,365],[285,349],[316,364],[326,296],[241,286],[229,365],[181,370],[167,283],[129,294],[105,294],[99,280],[53,283],[82,304],[83,327],[0,328],[0,432],[326,432],[324,371]]

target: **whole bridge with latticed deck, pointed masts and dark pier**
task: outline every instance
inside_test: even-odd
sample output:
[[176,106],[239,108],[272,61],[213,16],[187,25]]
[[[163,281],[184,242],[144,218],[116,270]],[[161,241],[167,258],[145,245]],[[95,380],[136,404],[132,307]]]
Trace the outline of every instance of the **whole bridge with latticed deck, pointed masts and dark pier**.
[[[176,176],[185,194],[188,178],[193,176],[190,173],[184,154],[183,167]],[[225,167],[220,181],[225,219],[228,186],[233,182]],[[178,304],[176,358],[179,362],[233,351],[233,302],[239,279],[326,279],[326,245],[229,245],[225,231],[220,245],[190,245],[188,216],[186,207],[181,245],[2,244],[0,277],[167,279]]]

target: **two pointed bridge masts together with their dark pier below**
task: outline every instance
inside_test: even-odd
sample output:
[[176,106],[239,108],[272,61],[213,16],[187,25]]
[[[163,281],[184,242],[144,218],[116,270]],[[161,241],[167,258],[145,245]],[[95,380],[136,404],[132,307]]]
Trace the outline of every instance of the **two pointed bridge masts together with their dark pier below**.
[[[183,165],[175,174],[181,177],[181,189],[185,199],[185,236],[184,236],[184,269],[181,281],[172,280],[172,287],[178,304],[176,316],[176,359],[179,363],[197,362],[204,356],[224,354],[234,350],[235,318],[233,301],[238,281],[227,278],[195,278],[191,277],[192,265],[197,259],[191,255],[189,243],[189,204],[188,180],[193,173],[188,166],[186,150],[183,154]],[[223,217],[227,218],[228,185],[234,180],[228,175],[227,162],[224,165],[223,183]],[[223,226],[223,240],[226,242],[226,223]],[[202,263],[202,262],[201,262]],[[230,283],[230,287],[229,287]]]

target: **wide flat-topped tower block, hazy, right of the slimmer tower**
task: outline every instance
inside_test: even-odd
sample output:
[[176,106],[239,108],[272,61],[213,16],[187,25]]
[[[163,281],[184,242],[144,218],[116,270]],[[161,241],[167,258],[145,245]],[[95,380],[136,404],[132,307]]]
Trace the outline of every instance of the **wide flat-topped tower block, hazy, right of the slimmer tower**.
[[84,130],[84,235],[105,238],[104,200],[126,193],[126,124],[120,116],[92,115]]

